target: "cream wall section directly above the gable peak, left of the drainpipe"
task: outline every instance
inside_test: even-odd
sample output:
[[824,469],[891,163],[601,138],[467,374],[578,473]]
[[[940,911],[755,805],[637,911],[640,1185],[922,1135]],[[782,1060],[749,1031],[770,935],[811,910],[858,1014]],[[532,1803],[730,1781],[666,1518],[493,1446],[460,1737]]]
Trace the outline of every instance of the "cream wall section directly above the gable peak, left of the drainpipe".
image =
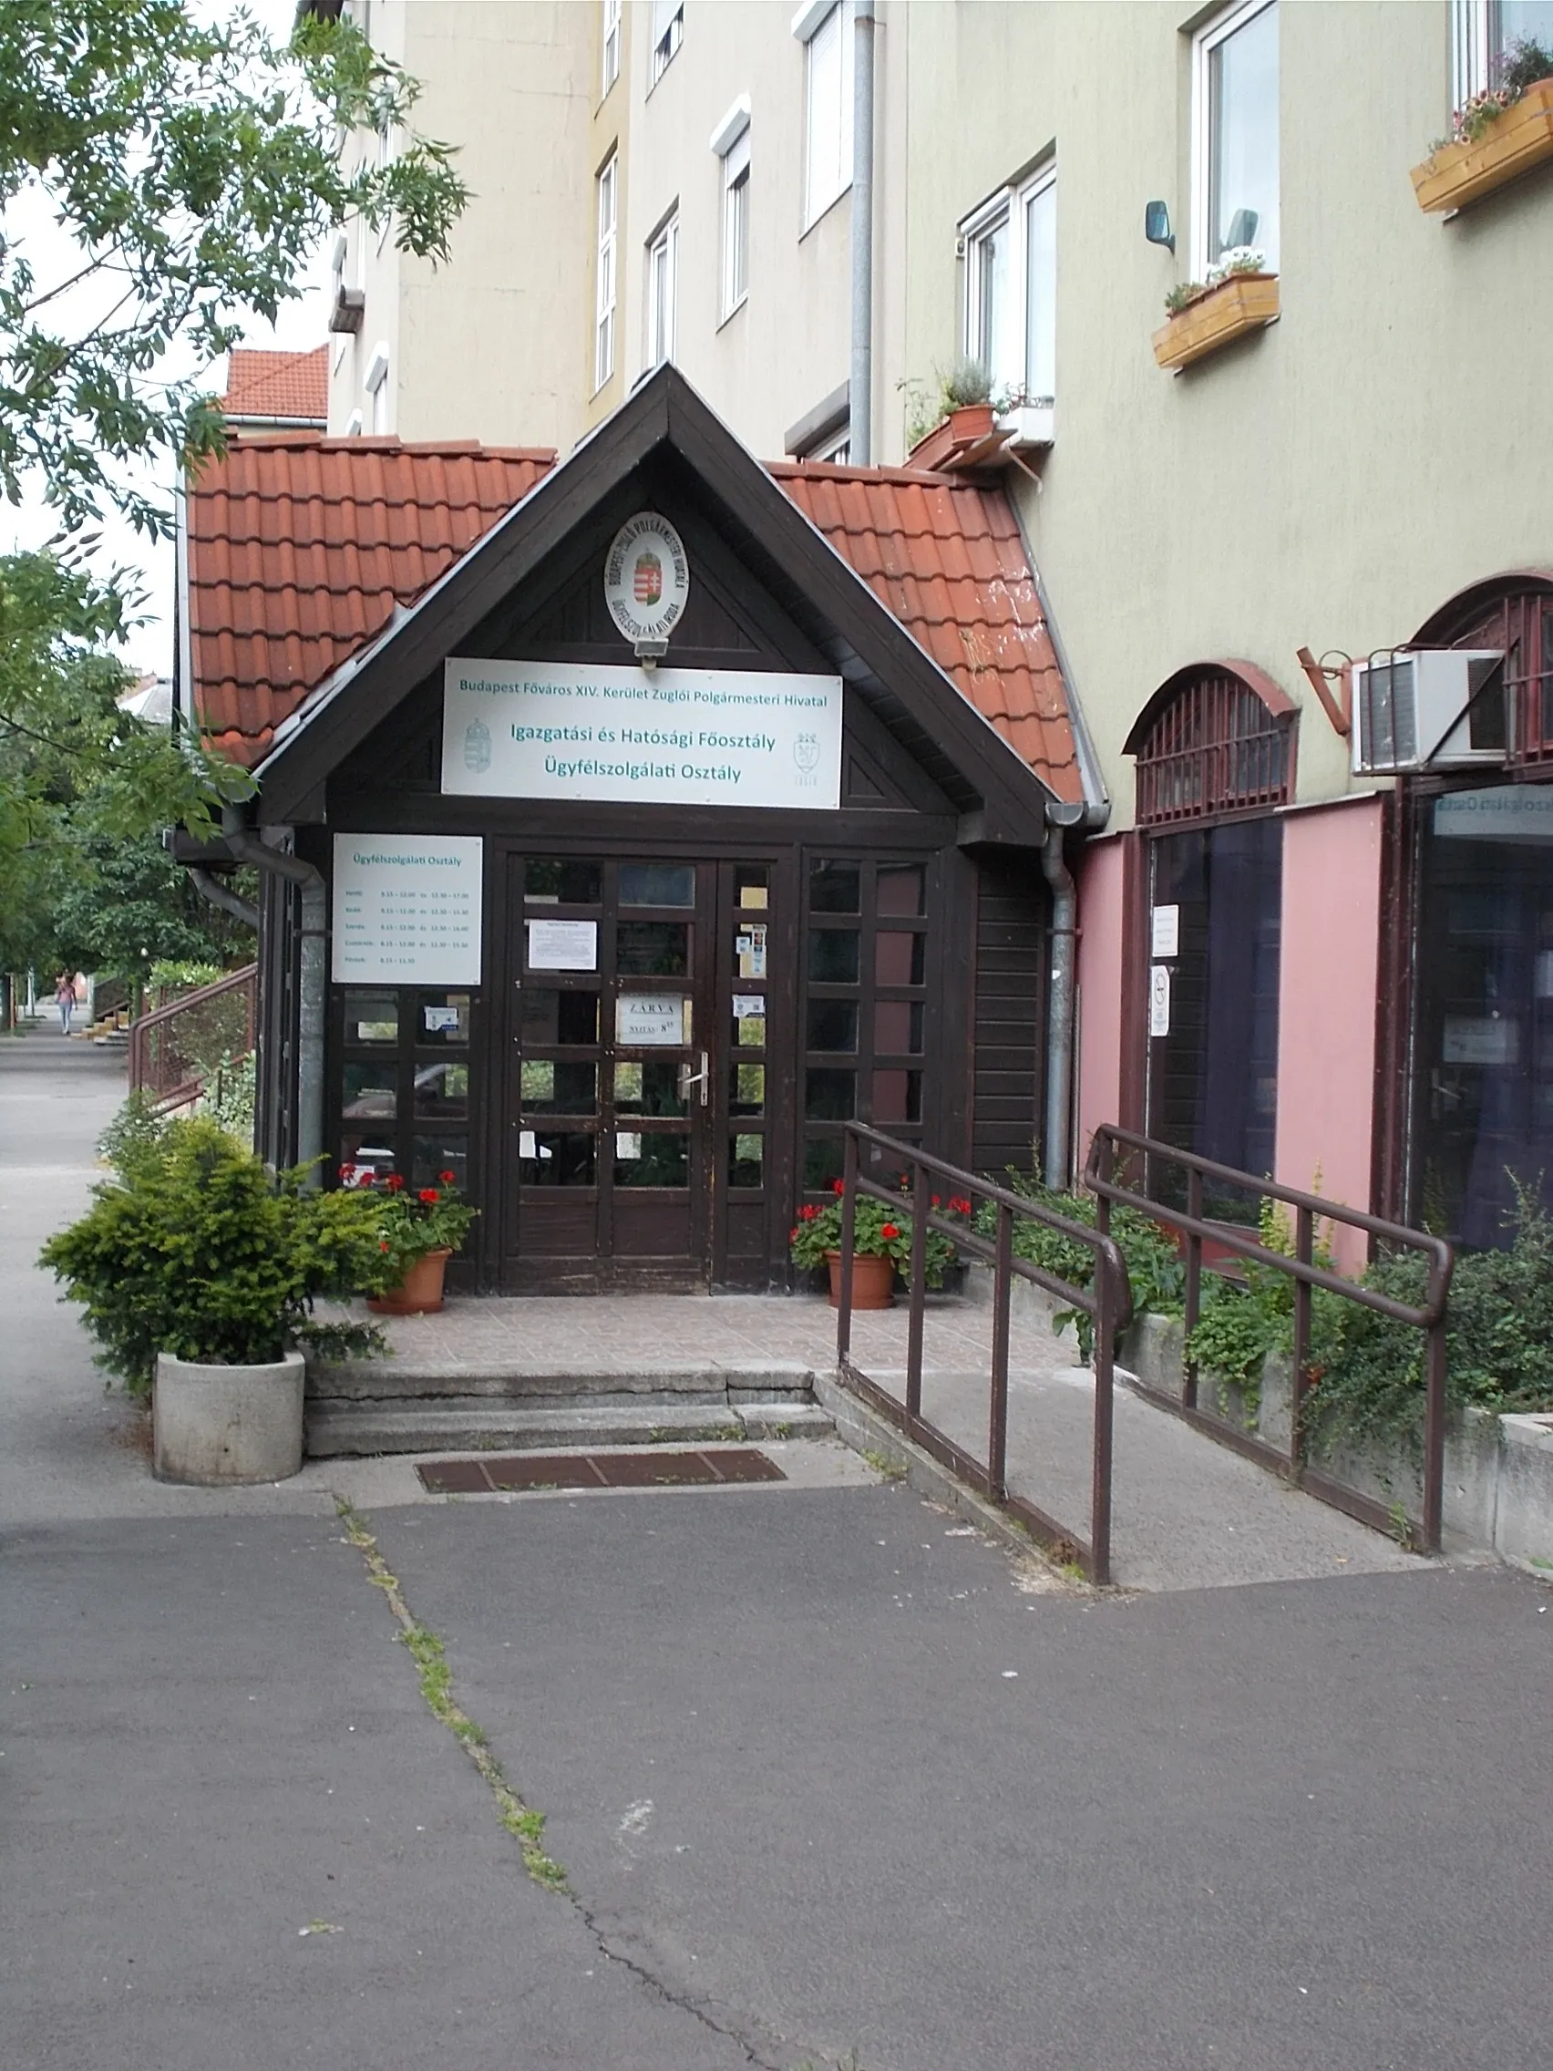
[[[687,0],[685,35],[646,91],[650,0],[632,21],[632,139],[621,273],[625,385],[646,356],[648,238],[679,203],[675,364],[762,458],[847,379],[851,230],[843,195],[803,234],[803,46],[791,0]],[[750,296],[719,321],[723,166],[712,126],[750,95]],[[646,95],[646,97],[644,97]]]

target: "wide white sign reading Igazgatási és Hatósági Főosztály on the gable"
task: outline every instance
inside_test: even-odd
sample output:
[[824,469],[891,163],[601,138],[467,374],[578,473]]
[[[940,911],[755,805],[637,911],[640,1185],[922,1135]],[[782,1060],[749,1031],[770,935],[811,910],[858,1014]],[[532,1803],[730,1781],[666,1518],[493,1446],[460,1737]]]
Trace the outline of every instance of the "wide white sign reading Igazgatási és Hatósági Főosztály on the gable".
[[834,808],[841,677],[449,661],[443,791]]

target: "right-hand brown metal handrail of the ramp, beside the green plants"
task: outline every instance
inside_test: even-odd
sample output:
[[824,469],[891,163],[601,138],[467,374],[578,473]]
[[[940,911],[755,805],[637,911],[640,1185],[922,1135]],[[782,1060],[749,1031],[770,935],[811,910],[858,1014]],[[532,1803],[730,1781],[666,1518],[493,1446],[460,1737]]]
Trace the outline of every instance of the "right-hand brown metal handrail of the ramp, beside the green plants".
[[[1166,1207],[1151,1195],[1120,1185],[1116,1178],[1118,1151],[1147,1160],[1145,1172],[1155,1164],[1178,1166],[1186,1174],[1186,1209]],[[1271,1251],[1267,1245],[1257,1243],[1257,1238],[1244,1236],[1232,1224],[1207,1220],[1203,1216],[1205,1178],[1220,1180],[1222,1185],[1236,1187],[1242,1193],[1282,1201],[1292,1207],[1294,1255],[1290,1257],[1284,1251]],[[1100,1199],[1097,1222],[1102,1228],[1110,1222],[1110,1207],[1133,1207],[1139,1214],[1149,1216],[1162,1228],[1174,1230],[1186,1238],[1186,1313],[1182,1319],[1186,1344],[1191,1344],[1191,1334],[1201,1315],[1205,1238],[1236,1257],[1251,1259],[1255,1265],[1267,1265],[1294,1280],[1294,1402],[1290,1414],[1288,1458],[1284,1458],[1284,1454],[1280,1454],[1273,1446],[1247,1433],[1234,1433],[1234,1443],[1253,1458],[1288,1472],[1292,1481],[1307,1487],[1323,1501],[1336,1504],[1350,1516],[1360,1518],[1365,1524],[1375,1524],[1381,1530],[1389,1528],[1391,1520],[1377,1501],[1360,1495],[1356,1489],[1348,1489],[1329,1475],[1317,1472],[1305,1458],[1305,1410],[1311,1394],[1311,1288],[1323,1288],[1327,1294],[1340,1294],[1344,1301],[1352,1301],[1360,1309],[1373,1309],[1377,1315],[1389,1315],[1398,1323],[1410,1323],[1414,1330],[1425,1332],[1427,1394],[1423,1526],[1420,1530],[1414,1528],[1414,1537],[1425,1551],[1439,1553],[1445,1487],[1445,1307],[1449,1301],[1452,1267],[1456,1263],[1456,1253],[1445,1238],[1435,1236],[1429,1230],[1412,1230],[1402,1222],[1387,1222],[1383,1216],[1371,1216],[1358,1207],[1344,1207],[1340,1201],[1327,1201],[1319,1193],[1305,1193],[1298,1187],[1284,1187],[1278,1180],[1261,1178],[1255,1172],[1240,1172],[1236,1166],[1218,1164],[1211,1158],[1199,1158],[1195,1151],[1182,1151],[1174,1143],[1162,1143],[1158,1137],[1145,1137],[1135,1129],[1120,1129],[1114,1122],[1102,1122],[1093,1133],[1089,1143],[1089,1162],[1085,1166],[1085,1185]],[[1317,1265],[1313,1257],[1317,1222],[1342,1224],[1350,1230],[1362,1230],[1367,1236],[1377,1236],[1387,1245],[1402,1245],[1404,1249],[1423,1253],[1429,1261],[1427,1299],[1423,1305],[1396,1301],[1389,1294],[1381,1294],[1375,1288],[1367,1288],[1356,1280],[1344,1278],[1344,1274]],[[1168,1396],[1162,1396],[1153,1388],[1145,1388],[1145,1394],[1164,1402],[1168,1408],[1180,1408],[1182,1414],[1186,1414],[1201,1429],[1211,1431],[1215,1437],[1230,1435],[1226,1425],[1220,1425],[1213,1417],[1203,1417],[1197,1408],[1197,1363],[1191,1354],[1184,1361],[1180,1404],[1170,1402]]]

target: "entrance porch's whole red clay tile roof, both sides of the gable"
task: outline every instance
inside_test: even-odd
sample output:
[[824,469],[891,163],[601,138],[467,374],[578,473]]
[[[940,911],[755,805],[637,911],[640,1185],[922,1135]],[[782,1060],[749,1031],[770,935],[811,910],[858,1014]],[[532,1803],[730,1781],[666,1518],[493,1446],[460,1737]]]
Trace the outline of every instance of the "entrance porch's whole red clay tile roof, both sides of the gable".
[[[553,464],[474,443],[234,441],[188,491],[195,704],[209,743],[261,762],[282,719]],[[770,472],[1015,754],[1079,801],[1062,671],[1002,491],[903,468]]]

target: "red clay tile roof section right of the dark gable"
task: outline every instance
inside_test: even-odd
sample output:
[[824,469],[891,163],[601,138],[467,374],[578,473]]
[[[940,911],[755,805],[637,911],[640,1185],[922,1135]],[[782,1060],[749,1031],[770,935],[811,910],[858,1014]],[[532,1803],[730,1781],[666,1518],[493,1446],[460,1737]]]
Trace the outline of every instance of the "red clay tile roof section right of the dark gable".
[[1062,667],[1008,497],[909,468],[770,472],[1015,754],[1081,804]]

